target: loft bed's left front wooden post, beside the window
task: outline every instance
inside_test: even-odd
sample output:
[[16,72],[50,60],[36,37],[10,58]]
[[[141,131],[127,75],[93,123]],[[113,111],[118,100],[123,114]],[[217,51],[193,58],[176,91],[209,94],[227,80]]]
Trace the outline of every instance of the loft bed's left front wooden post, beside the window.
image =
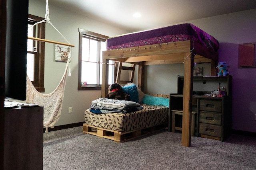
[[108,63],[109,59],[104,58],[104,51],[102,57],[102,85],[101,85],[101,97],[108,98]]

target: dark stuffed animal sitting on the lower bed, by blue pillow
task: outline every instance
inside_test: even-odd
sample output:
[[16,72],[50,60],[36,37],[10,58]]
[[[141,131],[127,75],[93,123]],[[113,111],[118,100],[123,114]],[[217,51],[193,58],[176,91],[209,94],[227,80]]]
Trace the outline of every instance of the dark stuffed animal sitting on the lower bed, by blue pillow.
[[117,100],[130,100],[130,95],[126,94],[122,90],[122,86],[118,83],[113,83],[108,87],[109,99],[117,99]]

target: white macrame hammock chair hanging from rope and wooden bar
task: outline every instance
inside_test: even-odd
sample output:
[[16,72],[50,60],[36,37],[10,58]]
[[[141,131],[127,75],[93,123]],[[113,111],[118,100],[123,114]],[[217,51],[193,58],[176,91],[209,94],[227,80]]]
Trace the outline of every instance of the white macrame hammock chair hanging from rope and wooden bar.
[[[42,23],[47,21],[52,25],[50,22],[49,18],[49,8],[48,8],[48,0],[46,0],[46,15],[45,15],[45,20],[39,21],[38,23]],[[34,25],[37,25],[38,23],[35,23]],[[31,27],[33,27],[32,25]],[[54,25],[52,25],[54,27]],[[56,29],[56,27],[54,27]],[[58,31],[56,29],[56,31]],[[60,33],[58,31],[58,33]],[[60,33],[60,35],[62,35]],[[62,35],[62,37],[64,37]],[[65,44],[65,43],[59,43],[56,41],[50,41],[50,40],[45,40],[45,39],[39,39],[35,37],[28,37],[28,39],[33,39],[36,41],[43,41],[43,42],[49,42],[49,43],[55,43],[55,44],[60,44],[60,45],[67,45],[70,47],[74,47],[74,45]],[[64,39],[66,39],[64,37]],[[68,41],[66,39],[66,41]],[[69,72],[68,72],[68,66],[69,66]],[[33,104],[38,104],[39,106],[44,107],[44,127],[46,127],[46,132],[48,132],[48,127],[53,128],[54,124],[58,121],[60,117],[60,112],[62,108],[62,103],[63,103],[63,98],[64,98],[64,90],[65,90],[65,85],[66,85],[66,78],[67,78],[67,72],[68,76],[71,76],[70,72],[70,55],[68,56],[68,61],[66,63],[66,68],[64,70],[64,74],[60,80],[60,83],[56,87],[56,89],[51,92],[50,94],[42,94],[34,88],[34,85],[30,81],[27,75],[27,87],[26,87],[26,103],[33,103]]]

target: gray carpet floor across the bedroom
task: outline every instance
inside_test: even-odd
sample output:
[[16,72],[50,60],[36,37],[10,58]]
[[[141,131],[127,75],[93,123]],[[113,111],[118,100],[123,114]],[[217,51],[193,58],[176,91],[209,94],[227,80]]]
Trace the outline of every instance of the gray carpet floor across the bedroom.
[[74,127],[44,133],[44,170],[256,170],[256,137],[225,142],[160,131],[117,143]]

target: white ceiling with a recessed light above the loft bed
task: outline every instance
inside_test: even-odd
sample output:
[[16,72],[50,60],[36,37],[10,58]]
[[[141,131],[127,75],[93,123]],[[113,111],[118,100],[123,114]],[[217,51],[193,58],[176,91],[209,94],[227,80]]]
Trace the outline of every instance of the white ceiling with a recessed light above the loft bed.
[[[49,0],[130,32],[256,8],[255,0]],[[140,18],[134,18],[134,13]]]

